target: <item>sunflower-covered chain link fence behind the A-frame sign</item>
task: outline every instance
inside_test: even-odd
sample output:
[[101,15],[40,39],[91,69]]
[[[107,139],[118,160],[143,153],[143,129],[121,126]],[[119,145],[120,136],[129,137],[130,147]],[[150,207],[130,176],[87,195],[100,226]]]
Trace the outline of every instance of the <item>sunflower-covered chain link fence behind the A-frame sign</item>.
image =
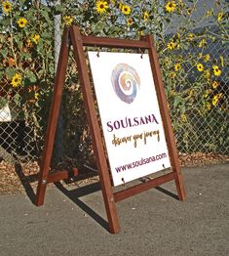
[[[153,33],[177,149],[229,154],[228,1],[0,1],[0,157],[39,161],[63,25],[137,39]],[[70,53],[54,164],[91,163],[77,66]]]

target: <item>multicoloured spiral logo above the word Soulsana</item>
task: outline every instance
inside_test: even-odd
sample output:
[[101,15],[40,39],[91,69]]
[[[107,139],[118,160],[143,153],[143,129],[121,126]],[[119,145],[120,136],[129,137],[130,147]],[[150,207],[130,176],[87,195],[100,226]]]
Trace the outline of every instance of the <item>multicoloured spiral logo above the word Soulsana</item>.
[[140,87],[140,78],[129,64],[117,64],[112,70],[111,82],[116,95],[127,104],[132,104]]

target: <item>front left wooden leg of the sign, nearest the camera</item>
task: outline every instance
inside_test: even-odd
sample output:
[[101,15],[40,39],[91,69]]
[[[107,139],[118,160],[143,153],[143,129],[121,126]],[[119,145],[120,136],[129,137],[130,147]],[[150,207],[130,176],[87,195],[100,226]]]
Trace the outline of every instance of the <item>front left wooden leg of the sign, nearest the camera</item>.
[[100,129],[96,117],[95,99],[93,97],[85,53],[83,49],[83,39],[80,34],[79,28],[76,26],[71,27],[70,35],[71,43],[73,46],[73,54],[77,63],[79,79],[82,85],[82,92],[93,140],[95,158],[98,167],[98,175],[104,199],[104,204],[106,208],[109,228],[111,233],[116,234],[120,231],[118,215],[116,211],[116,205],[112,191],[110,176],[108,172],[108,166],[106,163],[106,157],[100,135]]

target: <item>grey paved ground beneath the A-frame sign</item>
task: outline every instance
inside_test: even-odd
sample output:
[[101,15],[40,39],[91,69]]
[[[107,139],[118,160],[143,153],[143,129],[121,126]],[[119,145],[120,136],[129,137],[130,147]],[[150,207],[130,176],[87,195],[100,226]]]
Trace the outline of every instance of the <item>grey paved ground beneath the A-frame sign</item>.
[[41,207],[2,195],[0,255],[229,255],[229,164],[183,174],[183,202],[163,192],[175,192],[173,182],[119,202],[118,235],[107,232],[96,185],[49,189]]

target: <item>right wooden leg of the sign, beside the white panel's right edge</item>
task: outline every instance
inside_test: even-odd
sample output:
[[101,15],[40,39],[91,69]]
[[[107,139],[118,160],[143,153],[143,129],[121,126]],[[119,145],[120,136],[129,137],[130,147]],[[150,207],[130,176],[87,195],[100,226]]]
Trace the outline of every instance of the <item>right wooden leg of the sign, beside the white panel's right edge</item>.
[[157,52],[154,46],[154,40],[152,35],[146,36],[143,40],[147,40],[151,45],[151,47],[149,48],[149,60],[150,60],[151,69],[154,77],[155,89],[157,92],[159,107],[161,110],[161,116],[163,120],[166,140],[168,144],[168,150],[171,157],[172,171],[175,173],[174,181],[175,181],[176,190],[177,190],[179,199],[184,200],[186,197],[186,194],[184,190],[184,184],[183,184],[183,179],[181,175],[178,154],[176,151],[174,136],[172,132],[172,121],[171,121],[170,111],[169,111],[167,100],[165,97],[165,89],[162,82],[161,71],[159,68],[160,64],[157,58]]

